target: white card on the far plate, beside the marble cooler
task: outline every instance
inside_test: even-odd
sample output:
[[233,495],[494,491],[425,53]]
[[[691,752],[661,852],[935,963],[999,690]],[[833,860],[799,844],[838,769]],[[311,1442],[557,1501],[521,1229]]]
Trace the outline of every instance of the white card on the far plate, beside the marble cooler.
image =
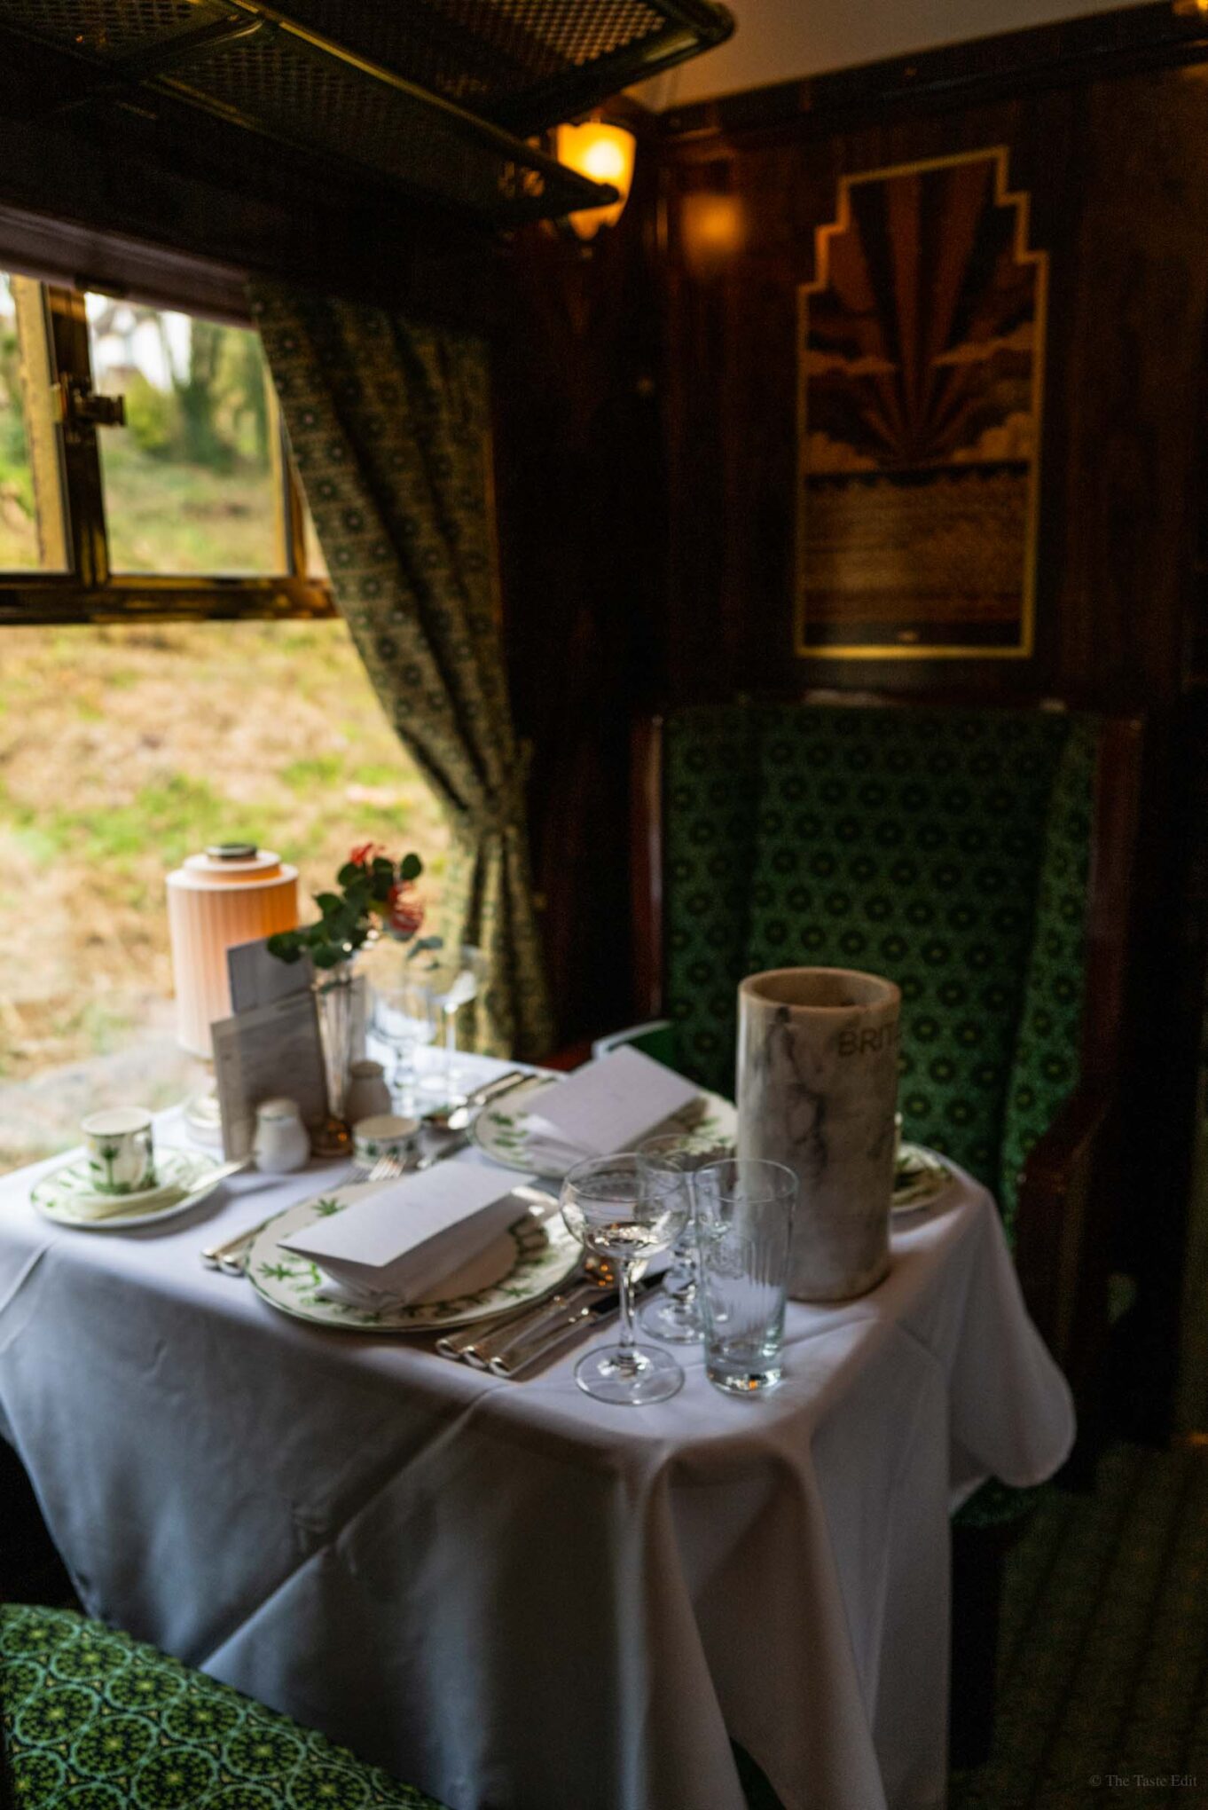
[[530,1126],[548,1128],[586,1157],[604,1157],[633,1149],[698,1095],[684,1075],[640,1050],[620,1048],[533,1097]]

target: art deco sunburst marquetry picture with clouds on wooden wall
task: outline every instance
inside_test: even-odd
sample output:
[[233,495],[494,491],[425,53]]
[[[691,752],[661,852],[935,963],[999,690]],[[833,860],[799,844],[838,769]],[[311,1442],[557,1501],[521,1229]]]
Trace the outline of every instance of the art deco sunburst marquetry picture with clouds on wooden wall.
[[799,290],[799,653],[1031,653],[1047,257],[1027,210],[1002,147],[839,183]]

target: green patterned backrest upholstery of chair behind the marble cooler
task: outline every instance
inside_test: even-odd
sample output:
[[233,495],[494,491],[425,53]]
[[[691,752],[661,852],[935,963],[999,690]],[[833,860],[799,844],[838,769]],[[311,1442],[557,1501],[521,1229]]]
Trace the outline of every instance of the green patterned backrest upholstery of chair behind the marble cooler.
[[665,1010],[734,1086],[734,990],[799,963],[902,988],[906,1137],[986,1182],[1078,1081],[1099,720],[1049,711],[700,706],[664,731]]

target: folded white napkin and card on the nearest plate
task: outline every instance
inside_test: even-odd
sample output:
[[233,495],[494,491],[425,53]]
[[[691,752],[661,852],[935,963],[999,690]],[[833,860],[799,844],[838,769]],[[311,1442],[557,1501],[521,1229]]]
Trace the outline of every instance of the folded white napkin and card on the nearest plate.
[[512,1198],[515,1186],[477,1164],[441,1162],[365,1189],[282,1245],[318,1263],[333,1300],[414,1301],[524,1216]]

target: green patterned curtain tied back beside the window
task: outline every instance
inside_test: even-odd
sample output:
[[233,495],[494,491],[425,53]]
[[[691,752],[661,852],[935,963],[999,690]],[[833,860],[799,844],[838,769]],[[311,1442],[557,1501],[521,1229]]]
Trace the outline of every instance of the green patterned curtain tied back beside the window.
[[251,286],[335,599],[452,825],[450,930],[490,961],[479,1046],[550,1046],[495,614],[486,348],[380,308]]

